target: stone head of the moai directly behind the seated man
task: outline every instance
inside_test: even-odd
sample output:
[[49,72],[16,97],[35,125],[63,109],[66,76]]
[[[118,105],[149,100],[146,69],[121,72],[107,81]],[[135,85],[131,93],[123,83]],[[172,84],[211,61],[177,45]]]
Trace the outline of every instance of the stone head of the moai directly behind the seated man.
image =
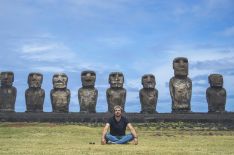
[[112,72],[109,75],[109,84],[111,88],[123,88],[124,75],[121,72]]

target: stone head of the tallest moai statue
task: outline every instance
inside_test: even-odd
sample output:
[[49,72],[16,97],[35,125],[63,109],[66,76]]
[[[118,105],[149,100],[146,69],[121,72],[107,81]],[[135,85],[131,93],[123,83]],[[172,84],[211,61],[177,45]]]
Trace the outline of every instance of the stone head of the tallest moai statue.
[[173,69],[175,76],[188,75],[188,59],[184,57],[177,57],[173,60]]

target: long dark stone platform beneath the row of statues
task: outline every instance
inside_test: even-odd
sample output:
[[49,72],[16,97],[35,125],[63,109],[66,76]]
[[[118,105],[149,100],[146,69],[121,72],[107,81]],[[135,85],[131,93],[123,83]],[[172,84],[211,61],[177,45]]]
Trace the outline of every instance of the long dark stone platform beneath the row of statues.
[[[234,123],[234,112],[227,113],[125,113],[130,122],[214,122],[214,123]],[[112,114],[110,113],[24,113],[24,112],[0,112],[0,122],[79,122],[97,123],[106,122]]]

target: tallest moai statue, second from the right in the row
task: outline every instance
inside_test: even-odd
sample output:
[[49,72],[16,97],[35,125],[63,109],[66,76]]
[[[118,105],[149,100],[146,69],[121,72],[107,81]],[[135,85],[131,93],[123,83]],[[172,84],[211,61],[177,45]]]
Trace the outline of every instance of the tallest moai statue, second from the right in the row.
[[178,57],[173,60],[174,77],[169,87],[172,99],[172,112],[190,112],[192,80],[188,77],[188,59]]

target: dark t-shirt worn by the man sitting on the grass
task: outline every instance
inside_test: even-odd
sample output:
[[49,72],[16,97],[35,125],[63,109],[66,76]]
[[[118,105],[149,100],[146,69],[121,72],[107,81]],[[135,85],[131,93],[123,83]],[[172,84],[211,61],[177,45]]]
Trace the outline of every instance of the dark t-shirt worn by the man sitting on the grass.
[[115,116],[109,118],[110,134],[113,136],[124,136],[126,126],[129,123],[126,117],[121,116],[119,122],[116,121]]

